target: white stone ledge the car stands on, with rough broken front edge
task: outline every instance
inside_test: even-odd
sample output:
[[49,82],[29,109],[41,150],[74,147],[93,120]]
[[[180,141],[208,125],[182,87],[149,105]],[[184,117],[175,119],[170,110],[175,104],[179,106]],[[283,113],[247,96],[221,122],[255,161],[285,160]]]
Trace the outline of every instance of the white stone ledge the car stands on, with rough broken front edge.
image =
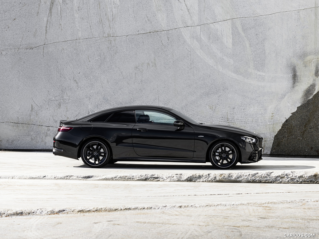
[[100,169],[50,152],[0,151],[0,178],[319,183],[319,159],[264,157],[217,170],[211,163],[117,162]]

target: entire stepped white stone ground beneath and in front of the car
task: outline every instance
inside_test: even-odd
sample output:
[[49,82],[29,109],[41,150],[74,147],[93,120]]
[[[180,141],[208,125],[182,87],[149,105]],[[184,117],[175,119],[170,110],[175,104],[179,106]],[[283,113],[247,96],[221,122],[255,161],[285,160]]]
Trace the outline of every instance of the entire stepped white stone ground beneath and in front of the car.
[[[295,172],[301,178],[317,172],[318,164],[314,159],[267,158],[234,171],[258,178],[277,167],[278,175]],[[115,163],[91,169],[43,152],[2,151],[0,165],[4,239],[284,238],[319,233],[316,183],[189,182],[187,175],[207,179],[214,169],[186,163]],[[229,175],[233,170],[216,171]],[[185,180],[162,182],[161,175]]]

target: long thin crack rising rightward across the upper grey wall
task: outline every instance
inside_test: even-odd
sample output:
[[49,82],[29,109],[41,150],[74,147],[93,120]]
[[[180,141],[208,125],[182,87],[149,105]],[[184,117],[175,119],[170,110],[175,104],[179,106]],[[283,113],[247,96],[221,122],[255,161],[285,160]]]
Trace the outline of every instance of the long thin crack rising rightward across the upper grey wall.
[[183,29],[183,28],[188,28],[188,27],[198,27],[198,26],[211,25],[211,24],[216,24],[216,23],[221,23],[221,22],[226,22],[226,21],[236,20],[236,19],[259,18],[259,17],[271,16],[271,15],[275,15],[275,14],[279,14],[279,13],[304,11],[304,10],[317,9],[317,8],[319,8],[319,6],[303,8],[303,9],[296,9],[296,10],[289,10],[289,11],[279,11],[279,12],[273,12],[273,13],[269,13],[269,14],[261,14],[261,15],[250,16],[250,17],[227,18],[225,20],[220,20],[220,21],[216,21],[216,22],[208,22],[208,23],[202,23],[202,24],[198,24],[198,25],[181,26],[181,27],[175,27],[175,28],[166,29],[166,30],[154,30],[154,31],[149,31],[149,32],[145,32],[145,33],[135,33],[135,34],[118,35],[118,36],[99,36],[99,37],[77,38],[77,39],[72,39],[72,40],[64,40],[64,41],[55,41],[55,42],[45,43],[45,44],[41,44],[41,45],[34,46],[34,47],[3,48],[3,49],[0,49],[0,51],[32,50],[32,49],[37,48],[37,47],[43,47],[43,46],[52,45],[52,44],[56,44],[56,43],[63,43],[63,42],[77,41],[77,40],[89,40],[89,39],[101,39],[101,38],[111,39],[111,38],[120,38],[120,37],[132,37],[132,36],[138,36],[138,35],[150,34],[150,33],[168,32],[168,31],[173,31],[173,30],[178,30],[178,29]]

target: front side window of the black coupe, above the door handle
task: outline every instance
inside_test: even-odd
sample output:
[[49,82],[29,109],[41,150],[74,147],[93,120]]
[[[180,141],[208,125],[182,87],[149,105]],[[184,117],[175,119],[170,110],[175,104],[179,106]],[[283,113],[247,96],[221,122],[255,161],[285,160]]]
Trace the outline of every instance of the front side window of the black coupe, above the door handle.
[[137,123],[141,124],[165,124],[173,125],[177,120],[171,115],[159,111],[152,110],[136,110],[135,111]]

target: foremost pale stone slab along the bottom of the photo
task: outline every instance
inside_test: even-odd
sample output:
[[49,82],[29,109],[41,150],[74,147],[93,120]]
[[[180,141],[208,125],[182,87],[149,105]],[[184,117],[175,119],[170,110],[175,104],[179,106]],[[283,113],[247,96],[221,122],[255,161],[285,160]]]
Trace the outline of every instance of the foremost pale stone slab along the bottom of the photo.
[[317,238],[318,210],[299,202],[7,217],[0,231],[3,239]]

